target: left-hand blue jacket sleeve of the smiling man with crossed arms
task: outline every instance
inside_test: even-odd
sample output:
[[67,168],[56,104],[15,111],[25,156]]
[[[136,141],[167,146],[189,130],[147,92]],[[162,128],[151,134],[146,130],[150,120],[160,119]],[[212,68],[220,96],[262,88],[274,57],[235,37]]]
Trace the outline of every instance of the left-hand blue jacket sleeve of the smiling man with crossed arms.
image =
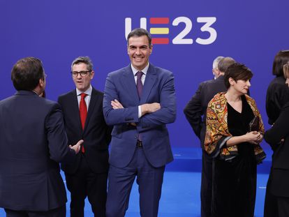
[[114,86],[115,77],[108,74],[103,95],[103,114],[108,125],[128,124],[138,122],[138,105],[114,110],[111,101],[119,100],[117,88]]

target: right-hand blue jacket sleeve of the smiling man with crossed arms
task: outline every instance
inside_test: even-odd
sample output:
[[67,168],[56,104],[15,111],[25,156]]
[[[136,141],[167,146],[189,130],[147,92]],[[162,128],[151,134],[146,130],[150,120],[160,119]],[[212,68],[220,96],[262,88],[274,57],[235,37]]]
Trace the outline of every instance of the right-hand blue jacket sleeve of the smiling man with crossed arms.
[[161,109],[156,112],[145,114],[138,122],[138,130],[147,130],[163,124],[169,124],[176,119],[176,96],[175,82],[172,73],[168,75],[163,86],[160,87]]

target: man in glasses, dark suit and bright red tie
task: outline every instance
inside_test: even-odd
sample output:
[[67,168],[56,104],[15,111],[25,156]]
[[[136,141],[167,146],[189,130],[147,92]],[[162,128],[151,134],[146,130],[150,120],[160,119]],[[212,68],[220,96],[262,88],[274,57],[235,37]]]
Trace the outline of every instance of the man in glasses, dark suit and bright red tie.
[[111,128],[103,118],[103,93],[91,87],[94,70],[89,57],[77,57],[71,64],[71,74],[76,89],[58,99],[68,141],[84,140],[75,164],[61,164],[71,192],[71,216],[84,216],[88,197],[94,215],[105,217]]

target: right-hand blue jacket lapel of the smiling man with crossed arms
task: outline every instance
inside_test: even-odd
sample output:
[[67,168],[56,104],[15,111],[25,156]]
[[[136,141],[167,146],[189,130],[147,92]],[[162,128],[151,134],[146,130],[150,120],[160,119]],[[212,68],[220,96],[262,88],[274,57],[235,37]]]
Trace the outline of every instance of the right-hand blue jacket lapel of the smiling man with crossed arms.
[[147,75],[144,80],[144,87],[142,88],[142,96],[140,98],[140,105],[147,103],[147,98],[151,89],[154,87],[157,81],[156,70],[153,65],[149,64],[149,69],[147,70]]

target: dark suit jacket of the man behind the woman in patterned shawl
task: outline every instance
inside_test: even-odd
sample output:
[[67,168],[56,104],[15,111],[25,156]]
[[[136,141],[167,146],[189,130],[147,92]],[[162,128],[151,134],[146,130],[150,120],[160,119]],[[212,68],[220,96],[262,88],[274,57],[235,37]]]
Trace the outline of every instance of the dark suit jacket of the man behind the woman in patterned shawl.
[[216,80],[208,80],[200,83],[195,95],[188,101],[184,108],[184,114],[188,123],[191,124],[195,135],[200,139],[203,147],[206,134],[206,113],[210,100],[216,93],[227,91],[224,83],[224,76],[218,77]]

